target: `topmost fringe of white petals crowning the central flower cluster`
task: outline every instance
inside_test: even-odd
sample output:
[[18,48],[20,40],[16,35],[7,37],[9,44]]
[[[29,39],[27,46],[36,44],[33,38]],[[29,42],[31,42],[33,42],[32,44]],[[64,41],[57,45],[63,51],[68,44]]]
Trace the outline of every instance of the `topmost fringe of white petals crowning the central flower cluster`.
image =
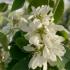
[[36,9],[34,7],[32,7],[32,10],[33,10],[32,14],[34,16],[42,15],[42,17],[43,17],[43,16],[46,16],[48,14],[48,12],[51,11],[51,10],[53,10],[53,9],[50,8],[47,5],[45,5],[45,6],[42,5],[41,7],[38,7]]

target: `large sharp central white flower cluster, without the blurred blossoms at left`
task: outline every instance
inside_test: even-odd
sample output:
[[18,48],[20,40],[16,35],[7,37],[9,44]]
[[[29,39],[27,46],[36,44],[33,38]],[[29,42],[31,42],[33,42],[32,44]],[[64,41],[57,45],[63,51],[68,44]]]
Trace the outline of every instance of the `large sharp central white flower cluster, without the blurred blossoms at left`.
[[49,6],[43,5],[36,9],[32,7],[32,9],[33,12],[27,19],[29,31],[25,36],[30,46],[25,46],[24,50],[34,51],[29,68],[35,69],[43,66],[43,70],[47,70],[47,62],[54,65],[57,57],[62,60],[66,52],[62,44],[64,38],[56,35],[56,32],[62,30],[69,32],[62,25],[54,24],[52,8]]

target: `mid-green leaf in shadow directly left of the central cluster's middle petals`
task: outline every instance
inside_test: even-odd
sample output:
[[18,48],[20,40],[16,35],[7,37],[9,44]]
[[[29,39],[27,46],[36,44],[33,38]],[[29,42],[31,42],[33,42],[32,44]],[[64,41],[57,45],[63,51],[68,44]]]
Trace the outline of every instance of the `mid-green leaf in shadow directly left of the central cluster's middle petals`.
[[18,32],[16,32],[15,36],[13,37],[15,44],[19,48],[23,48],[23,46],[26,46],[29,43],[24,37],[25,34],[26,34],[26,32],[18,31]]

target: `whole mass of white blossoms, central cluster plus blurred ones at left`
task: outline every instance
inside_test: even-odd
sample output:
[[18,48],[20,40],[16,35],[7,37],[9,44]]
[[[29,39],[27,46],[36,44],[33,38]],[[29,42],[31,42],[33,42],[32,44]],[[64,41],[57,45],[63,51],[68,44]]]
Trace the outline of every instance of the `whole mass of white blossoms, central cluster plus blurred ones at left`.
[[[54,23],[53,9],[47,5],[41,7],[32,7],[32,12],[28,14],[23,8],[8,15],[7,25],[3,27],[2,32],[23,30],[27,32],[25,38],[29,41],[24,50],[33,52],[28,66],[35,69],[42,67],[47,70],[47,63],[53,65],[57,57],[62,60],[65,48],[63,45],[64,38],[57,35],[57,31],[68,31],[62,26]],[[5,31],[6,30],[6,31]],[[12,37],[12,36],[11,36]]]

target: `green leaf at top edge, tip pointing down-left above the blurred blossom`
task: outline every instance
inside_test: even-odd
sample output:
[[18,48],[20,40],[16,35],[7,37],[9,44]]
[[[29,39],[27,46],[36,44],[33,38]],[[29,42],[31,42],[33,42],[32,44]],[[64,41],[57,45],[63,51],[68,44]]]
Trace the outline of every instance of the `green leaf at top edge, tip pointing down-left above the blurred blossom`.
[[11,11],[17,10],[24,5],[25,0],[14,0]]

